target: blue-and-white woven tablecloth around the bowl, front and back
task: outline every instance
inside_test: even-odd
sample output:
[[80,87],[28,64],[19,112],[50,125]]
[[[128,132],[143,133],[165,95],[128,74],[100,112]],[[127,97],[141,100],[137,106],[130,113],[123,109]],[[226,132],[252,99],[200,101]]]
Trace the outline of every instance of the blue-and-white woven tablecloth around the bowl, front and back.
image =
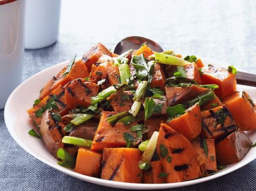
[[[119,2],[113,3],[117,7],[101,22],[97,15],[109,1],[63,1],[59,41],[25,51],[23,80],[76,53],[83,55],[98,42],[113,48],[121,38],[131,35],[154,39],[177,53],[220,59],[256,73],[255,0],[131,0],[130,4],[137,3],[132,8]],[[101,3],[103,6],[98,7]],[[87,16],[95,22],[85,19]],[[0,191],[119,191],[67,176],[34,159],[12,139],[3,113],[0,110]],[[255,180],[253,161],[226,176],[173,191],[255,191]]]

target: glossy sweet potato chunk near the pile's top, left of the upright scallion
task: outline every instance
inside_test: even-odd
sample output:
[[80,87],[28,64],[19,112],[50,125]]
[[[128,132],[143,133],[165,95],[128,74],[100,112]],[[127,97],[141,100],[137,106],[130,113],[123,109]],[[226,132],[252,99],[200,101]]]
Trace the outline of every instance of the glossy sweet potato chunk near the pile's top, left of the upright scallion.
[[120,74],[118,66],[109,62],[101,63],[98,66],[93,66],[90,73],[91,80],[96,80],[98,82],[107,78],[107,83],[109,83],[110,86],[120,83],[119,76]]

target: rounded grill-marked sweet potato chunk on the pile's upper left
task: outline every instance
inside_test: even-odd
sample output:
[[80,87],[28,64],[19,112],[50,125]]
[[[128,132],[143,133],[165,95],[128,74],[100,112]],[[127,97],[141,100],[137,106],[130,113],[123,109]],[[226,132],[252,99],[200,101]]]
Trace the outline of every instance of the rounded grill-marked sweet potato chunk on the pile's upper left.
[[77,106],[88,107],[91,104],[91,97],[96,96],[99,91],[97,84],[81,78],[72,80],[65,88],[65,98],[71,109]]

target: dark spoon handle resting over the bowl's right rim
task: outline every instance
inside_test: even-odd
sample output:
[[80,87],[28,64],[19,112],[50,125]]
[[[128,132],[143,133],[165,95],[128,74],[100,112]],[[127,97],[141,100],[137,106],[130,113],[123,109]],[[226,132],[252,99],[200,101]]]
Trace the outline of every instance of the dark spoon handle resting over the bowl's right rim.
[[256,75],[252,73],[239,72],[236,74],[237,84],[256,87]]

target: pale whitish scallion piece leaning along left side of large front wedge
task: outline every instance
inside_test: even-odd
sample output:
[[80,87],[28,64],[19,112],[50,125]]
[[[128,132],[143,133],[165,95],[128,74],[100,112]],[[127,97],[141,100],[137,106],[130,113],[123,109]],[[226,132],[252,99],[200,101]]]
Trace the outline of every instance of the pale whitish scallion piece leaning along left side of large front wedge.
[[138,162],[139,164],[151,161],[151,159],[154,155],[154,150],[156,148],[158,134],[159,134],[158,132],[153,133],[146,149],[144,150],[143,154],[140,157],[140,161]]

